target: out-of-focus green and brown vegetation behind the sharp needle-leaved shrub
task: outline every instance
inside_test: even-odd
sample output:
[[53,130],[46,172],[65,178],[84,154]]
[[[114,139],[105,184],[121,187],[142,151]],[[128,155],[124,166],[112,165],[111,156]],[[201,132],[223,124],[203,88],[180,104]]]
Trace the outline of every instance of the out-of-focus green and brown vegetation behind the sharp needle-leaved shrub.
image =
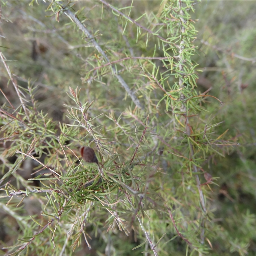
[[[108,1],[116,8],[131,6],[132,3],[134,8],[131,9],[130,13],[130,9],[122,9],[121,11],[127,11],[125,12],[126,15],[129,13],[133,20],[146,13],[138,22],[148,29],[155,29],[154,31],[157,30],[156,28],[159,24],[156,24],[157,19],[152,22],[153,14],[159,17],[166,2],[158,0],[140,0],[133,3],[130,0]],[[28,88],[28,84],[34,84],[33,95],[34,100],[37,101],[37,110],[38,112],[42,110],[43,113],[47,113],[47,120],[52,118],[54,136],[61,133],[60,127],[62,123],[73,124],[67,118],[67,107],[63,105],[63,103],[74,104],[67,96],[67,92],[70,93],[69,86],[74,90],[76,87],[82,88],[80,100],[83,103],[87,100],[89,102],[94,100],[88,112],[89,118],[98,116],[101,113],[111,117],[112,113],[115,113],[117,119],[124,111],[126,113],[129,112],[127,109],[131,109],[130,112],[140,116],[136,110],[134,111],[135,106],[134,104],[132,105],[129,95],[125,93],[123,87],[117,83],[114,76],[109,76],[111,74],[109,69],[105,71],[101,69],[99,76],[97,66],[95,66],[95,59],[100,62],[102,57],[92,48],[90,42],[84,40],[84,35],[76,25],[61,13],[60,15],[58,14],[59,17],[57,17],[56,13],[56,15],[52,15],[51,8],[46,11],[49,2],[38,1],[37,4],[35,1],[33,4],[30,3],[31,1],[1,1],[1,51],[8,60],[7,63],[17,83],[23,88]],[[153,56],[155,51],[156,57],[164,56],[160,47],[158,49],[155,48],[155,45],[157,45],[156,38],[152,36],[146,43],[147,36],[143,34],[145,31],[141,30],[142,35],[137,40],[137,32],[134,25],[128,23],[125,33],[122,35],[126,20],[113,14],[100,1],[74,1],[74,3],[76,5],[70,10],[73,13],[77,12],[76,15],[80,21],[86,24],[86,28],[97,38],[98,44],[112,57],[111,60],[115,60],[115,58],[122,59],[126,56]],[[201,102],[201,106],[205,108],[207,114],[199,115],[199,119],[203,118],[205,123],[208,122],[207,120],[209,120],[209,123],[212,120],[214,120],[214,123],[221,123],[221,125],[214,127],[214,132],[219,136],[228,130],[226,133],[228,139],[235,138],[236,142],[240,144],[237,147],[227,145],[225,149],[223,146],[216,147],[215,150],[225,157],[212,154],[207,156],[204,162],[201,162],[204,172],[211,174],[212,177],[218,177],[214,181],[216,184],[211,184],[211,189],[207,188],[208,190],[205,192],[208,209],[213,215],[211,223],[206,226],[208,240],[205,240],[205,246],[208,247],[208,251],[204,253],[209,255],[255,255],[255,2],[205,0],[199,3],[195,2],[194,8],[195,12],[191,12],[190,15],[192,19],[198,20],[194,24],[198,31],[197,39],[194,41],[197,50],[196,54],[192,56],[194,63],[199,64],[197,67],[196,91],[198,94],[207,91],[208,94],[224,102],[223,105],[220,105],[214,98],[207,97],[204,99]],[[152,93],[155,93],[154,97],[158,99],[157,101],[148,98],[147,93],[143,94],[143,90],[151,89],[148,89],[146,79],[143,80],[141,78],[140,67],[142,64],[139,61],[129,61],[128,63],[118,62],[119,73],[130,88],[134,92],[138,92],[137,97],[146,106],[145,108],[149,112],[154,112],[152,109],[156,107],[155,102],[158,102],[163,97],[161,96],[163,94],[161,90],[152,91]],[[157,67],[160,66],[160,71],[164,72],[162,62],[160,60],[154,60],[154,62]],[[103,60],[101,63],[104,65]],[[129,70],[127,67],[129,67]],[[0,68],[0,88],[12,104],[18,107],[20,105],[19,98],[9,81],[3,63],[1,63]],[[5,106],[6,99],[2,93],[0,94],[0,101],[1,105]],[[165,108],[165,104],[160,104],[159,106],[160,108]],[[164,111],[166,112],[165,109],[163,112],[156,112],[160,114],[158,120],[167,124],[169,117],[161,117]],[[129,126],[128,120],[130,120],[128,117],[131,116],[127,116],[127,126]],[[158,120],[155,119],[155,123]],[[146,122],[144,121],[143,123],[145,124]],[[3,124],[2,122],[1,126]],[[109,124],[104,118],[99,120],[98,125]],[[108,126],[108,129],[111,129],[110,126]],[[144,128],[145,126],[142,125],[138,130],[143,131]],[[109,135],[108,130],[104,127],[100,132],[107,137]],[[155,133],[158,131],[152,129],[150,132]],[[76,136],[77,140],[74,139]],[[77,130],[73,134],[67,134],[66,138],[63,138],[62,144],[65,142],[68,145],[72,145],[73,143],[74,148],[76,148],[79,144],[78,141],[84,136],[84,129]],[[140,136],[138,135],[139,139]],[[4,136],[1,134],[0,137]],[[123,140],[122,143],[124,144],[128,143],[125,141],[127,138],[122,138],[117,133],[111,139]],[[87,142],[89,144],[90,141]],[[80,143],[79,145],[82,144]],[[45,147],[45,145],[43,146]],[[43,146],[41,153],[44,150]],[[8,152],[9,155],[7,155],[6,148],[8,146],[2,143],[1,147],[2,156],[0,160],[2,161],[2,166],[5,166],[4,164],[7,160],[10,164],[14,164],[17,159],[15,151]],[[125,147],[122,148],[120,146],[118,149],[119,154],[128,155]],[[177,179],[176,182],[179,183],[180,180],[177,177],[180,177],[181,174],[179,173],[177,176],[177,174],[173,173],[177,169],[172,167],[172,158],[167,153],[171,149],[166,148],[163,143],[158,145],[157,149],[158,154],[154,155],[154,157],[160,158],[162,156],[162,160],[159,160],[162,172],[170,174],[167,179]],[[40,154],[40,150],[38,155],[41,159],[44,158]],[[49,155],[46,154],[46,160],[48,161],[48,159]],[[46,162],[44,163],[46,164]],[[1,177],[6,172],[6,166],[2,167]],[[57,164],[53,164],[53,166],[57,166]],[[23,169],[16,176],[8,177],[1,186],[10,180],[13,186],[25,189],[28,185],[26,181],[31,178],[30,174],[37,170],[35,168],[38,168],[38,166],[35,166],[34,162],[30,163],[26,168],[23,166]],[[19,177],[18,181],[17,177]],[[161,172],[158,172],[155,177],[160,180],[165,179],[161,176]],[[206,182],[203,176],[200,179],[202,180],[201,183]],[[39,186],[39,183],[31,186]],[[176,189],[175,186],[175,183],[172,183],[172,186],[170,185],[163,193],[167,193],[167,191],[172,193]],[[205,185],[205,187],[207,186]],[[2,192],[1,195],[4,196],[5,192]],[[13,217],[15,214],[11,214],[12,217],[10,217],[8,211],[4,208],[8,200],[1,198],[1,247],[17,244],[18,237],[31,236],[31,234],[22,233],[23,230],[20,227],[20,223]],[[15,207],[19,201],[20,199],[18,198]],[[38,201],[36,197],[26,198],[23,202],[23,207],[17,209],[17,215],[24,216],[24,218],[27,217],[29,221],[31,219],[28,215],[39,216],[41,206]],[[183,212],[186,215],[190,214],[188,205],[184,210],[187,212]],[[161,214],[154,213],[151,215],[150,221],[150,230],[155,230],[153,236],[156,236],[156,241],[164,234],[164,231],[160,234],[161,230],[164,230],[166,225],[172,225],[170,220],[169,224],[166,224],[164,217],[159,215]],[[107,217],[102,213],[100,218],[105,221]],[[191,217],[191,222],[193,222],[193,218]],[[183,224],[181,222],[178,229]],[[92,240],[90,240],[91,250],[88,249],[82,238],[81,246],[76,247],[74,252],[70,250],[68,253],[70,255],[140,255],[142,251],[146,251],[147,248],[145,249],[145,246],[132,250],[132,248],[146,240],[139,231],[136,234],[136,228],[132,229],[129,236],[126,236],[124,232],[118,229],[110,229],[107,233],[107,228],[104,225],[103,223],[97,228],[90,225],[87,227],[87,233],[92,237]],[[149,224],[147,225],[149,226]],[[37,231],[39,230],[37,229]],[[186,242],[176,236],[175,229],[172,228],[169,232],[167,238],[164,238],[166,240],[163,239],[161,241],[162,244],[159,244],[161,246],[158,251],[159,255],[185,255],[186,253],[198,255],[198,252],[192,249],[188,252]],[[21,234],[22,236],[20,236]],[[20,241],[22,242],[22,240]],[[64,243],[65,239],[60,238],[59,241]],[[46,247],[44,248],[52,248],[52,245],[50,245],[51,237],[48,242],[49,244],[45,245]],[[38,252],[36,252],[36,249],[33,250],[29,252],[31,253],[30,255],[42,253],[40,250]],[[44,252],[44,255],[55,255],[55,252],[51,250]],[[3,249],[1,254],[4,255],[6,252],[6,249]],[[152,252],[149,252],[149,254],[153,255]]]

